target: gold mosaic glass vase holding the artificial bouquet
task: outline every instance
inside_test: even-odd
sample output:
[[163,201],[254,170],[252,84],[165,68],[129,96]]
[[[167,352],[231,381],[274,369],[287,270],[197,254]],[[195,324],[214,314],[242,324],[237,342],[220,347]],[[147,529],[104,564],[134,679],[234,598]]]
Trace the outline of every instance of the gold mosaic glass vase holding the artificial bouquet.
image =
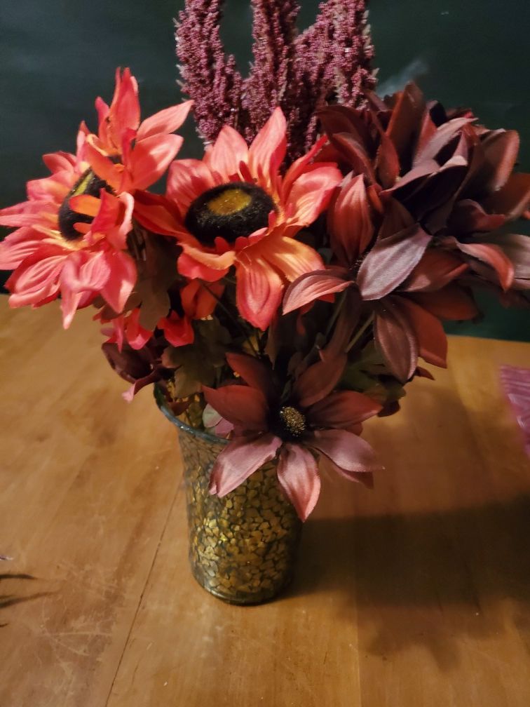
[[[208,592],[232,604],[259,604],[293,575],[302,523],[278,485],[276,461],[224,498],[208,492],[211,468],[227,440],[158,406],[177,428],[186,486],[189,563]],[[187,420],[187,421],[184,421]]]

